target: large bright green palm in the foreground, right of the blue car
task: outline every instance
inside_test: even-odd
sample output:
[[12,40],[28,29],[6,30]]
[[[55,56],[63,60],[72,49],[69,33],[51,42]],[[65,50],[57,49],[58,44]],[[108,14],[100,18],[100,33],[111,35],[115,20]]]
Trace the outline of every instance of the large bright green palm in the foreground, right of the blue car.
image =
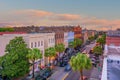
[[72,56],[70,65],[73,70],[80,71],[80,79],[83,80],[83,69],[90,69],[92,67],[91,60],[86,54],[78,53],[77,56]]

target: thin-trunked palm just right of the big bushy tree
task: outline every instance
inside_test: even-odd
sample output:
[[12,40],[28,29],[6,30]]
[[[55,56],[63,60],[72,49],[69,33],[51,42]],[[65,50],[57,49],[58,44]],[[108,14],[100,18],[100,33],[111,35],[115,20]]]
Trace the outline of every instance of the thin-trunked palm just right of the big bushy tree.
[[33,70],[33,78],[34,78],[34,63],[36,60],[42,58],[42,53],[37,48],[29,49],[29,54],[27,55],[27,58],[32,62],[32,65],[33,65],[32,70]]

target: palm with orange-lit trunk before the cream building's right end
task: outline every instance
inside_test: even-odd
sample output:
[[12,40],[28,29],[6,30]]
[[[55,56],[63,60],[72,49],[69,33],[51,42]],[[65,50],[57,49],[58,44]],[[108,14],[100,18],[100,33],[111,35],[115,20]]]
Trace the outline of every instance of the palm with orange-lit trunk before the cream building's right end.
[[56,55],[56,50],[54,47],[45,49],[45,57],[49,58],[49,64],[51,61],[51,57],[54,57],[55,55]]

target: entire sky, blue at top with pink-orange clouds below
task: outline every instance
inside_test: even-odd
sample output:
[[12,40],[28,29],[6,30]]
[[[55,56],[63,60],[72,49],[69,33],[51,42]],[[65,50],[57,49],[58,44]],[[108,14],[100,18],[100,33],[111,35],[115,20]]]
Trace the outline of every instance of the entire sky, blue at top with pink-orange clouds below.
[[0,26],[120,28],[120,0],[0,0]]

